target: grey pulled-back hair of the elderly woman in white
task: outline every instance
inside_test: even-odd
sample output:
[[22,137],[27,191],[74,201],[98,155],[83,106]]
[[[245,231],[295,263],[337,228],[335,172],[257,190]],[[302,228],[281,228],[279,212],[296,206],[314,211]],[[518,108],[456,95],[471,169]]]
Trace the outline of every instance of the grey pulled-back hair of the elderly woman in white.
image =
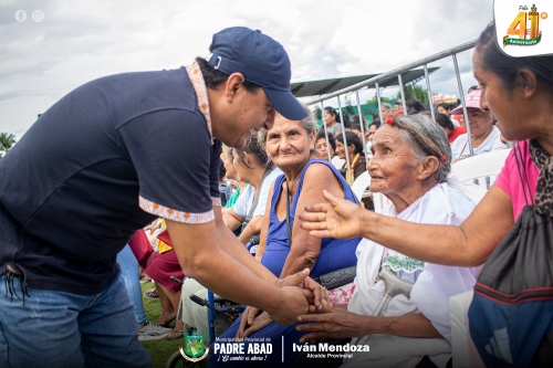
[[451,171],[451,147],[446,132],[424,114],[395,116],[392,126],[403,130],[401,139],[413,148],[418,161],[430,156],[438,158],[438,170],[428,179],[446,182]]

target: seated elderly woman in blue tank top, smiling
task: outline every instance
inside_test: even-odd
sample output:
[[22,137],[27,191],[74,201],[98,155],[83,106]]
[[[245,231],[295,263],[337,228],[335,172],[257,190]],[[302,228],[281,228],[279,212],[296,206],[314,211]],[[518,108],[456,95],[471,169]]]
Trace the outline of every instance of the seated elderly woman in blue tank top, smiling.
[[[315,129],[316,124],[312,116],[301,122],[291,122],[276,115],[274,126],[260,134],[259,140],[264,144],[269,156],[284,175],[278,177],[271,188],[271,202],[267,206],[263,217],[260,246],[255,256],[280,278],[305,267],[311,270],[310,276],[314,278],[335,270],[354,266],[357,262],[355,250],[361,238],[321,240],[310,236],[309,231],[301,229],[299,214],[305,206],[322,202],[323,190],[358,203],[349,186],[332,164],[311,159]],[[295,325],[280,326],[273,323],[267,313],[248,307],[220,336],[220,340],[248,337],[251,340],[243,343],[244,351],[248,351],[249,345],[255,344],[254,341],[270,340],[272,354],[265,355],[263,367],[290,367],[301,354],[295,351],[298,348],[294,349],[293,344],[299,344],[303,335],[295,330]],[[229,355],[229,358],[231,357],[232,355]],[[210,367],[217,367],[219,364],[225,367],[259,365],[257,360],[230,359],[219,362],[217,358],[219,357],[211,356]]]

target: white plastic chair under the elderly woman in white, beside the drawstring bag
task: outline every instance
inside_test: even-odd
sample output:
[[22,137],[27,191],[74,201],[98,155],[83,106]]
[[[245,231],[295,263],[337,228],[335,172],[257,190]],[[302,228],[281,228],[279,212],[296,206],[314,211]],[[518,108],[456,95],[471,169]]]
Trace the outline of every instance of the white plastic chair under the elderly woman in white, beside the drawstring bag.
[[[501,172],[510,151],[511,149],[502,149],[466,158],[451,165],[451,174],[461,182],[472,182],[489,189]],[[471,290],[449,298],[453,368],[484,367],[469,334],[468,313],[472,295]]]

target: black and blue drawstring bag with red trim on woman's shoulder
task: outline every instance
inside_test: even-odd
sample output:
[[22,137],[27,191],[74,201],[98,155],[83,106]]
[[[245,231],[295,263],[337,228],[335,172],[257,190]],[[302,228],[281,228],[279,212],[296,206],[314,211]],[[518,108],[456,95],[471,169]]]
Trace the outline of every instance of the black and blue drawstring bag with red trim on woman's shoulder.
[[553,158],[535,140],[530,153],[540,169],[535,203],[515,146],[526,207],[486,261],[469,308],[470,335],[487,367],[553,362]]

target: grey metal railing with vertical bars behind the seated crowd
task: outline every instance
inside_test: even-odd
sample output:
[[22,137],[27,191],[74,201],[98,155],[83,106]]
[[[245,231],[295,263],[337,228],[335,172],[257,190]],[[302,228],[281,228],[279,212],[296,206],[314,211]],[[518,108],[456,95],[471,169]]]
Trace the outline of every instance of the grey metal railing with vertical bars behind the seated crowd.
[[[461,76],[459,74],[459,65],[457,63],[457,54],[460,53],[460,52],[463,52],[463,51],[467,51],[467,50],[470,50],[470,49],[474,48],[476,44],[477,44],[477,40],[472,40],[470,42],[460,44],[460,45],[458,45],[456,48],[448,49],[446,51],[439,52],[437,54],[430,55],[430,56],[425,57],[425,59],[420,59],[420,60],[418,60],[416,62],[406,64],[406,65],[400,66],[400,67],[396,67],[396,69],[394,69],[394,70],[392,70],[389,72],[383,73],[383,74],[378,74],[377,76],[374,76],[372,78],[368,78],[368,80],[359,82],[359,83],[356,83],[356,84],[351,85],[351,86],[348,86],[346,88],[343,88],[343,90],[340,90],[340,91],[336,91],[336,92],[333,92],[333,93],[325,94],[325,95],[322,95],[320,97],[316,97],[316,98],[312,99],[311,102],[309,102],[307,105],[314,105],[314,104],[320,103],[321,104],[321,112],[323,113],[324,112],[324,104],[323,104],[323,102],[327,101],[327,99],[331,99],[333,97],[337,97],[338,112],[340,112],[341,125],[342,125],[342,132],[345,133],[344,119],[343,119],[343,116],[342,116],[342,104],[340,102],[340,96],[343,95],[343,94],[346,94],[346,93],[355,92],[356,93],[356,97],[357,97],[357,111],[359,113],[359,120],[362,123],[361,126],[362,126],[362,135],[363,135],[363,147],[365,147],[365,150],[366,150],[365,134],[364,134],[364,130],[363,130],[363,128],[364,128],[363,127],[363,125],[364,125],[363,124],[363,115],[362,115],[361,104],[359,104],[359,90],[363,88],[363,87],[366,87],[368,85],[372,85],[372,84],[375,85],[375,88],[376,88],[376,99],[378,102],[378,114],[380,116],[380,122],[383,122],[382,106],[380,106],[379,83],[388,81],[388,80],[397,76],[398,84],[399,84],[399,91],[401,93],[401,102],[403,102],[403,107],[404,107],[404,115],[407,115],[407,106],[405,104],[405,93],[404,93],[404,84],[403,84],[403,80],[401,80],[401,74],[405,73],[405,72],[408,72],[408,71],[410,71],[410,70],[413,70],[415,67],[422,66],[425,69],[425,80],[426,80],[426,87],[427,87],[428,98],[429,98],[429,104],[430,104],[430,114],[432,116],[432,120],[435,120],[435,114],[434,114],[434,108],[432,108],[432,93],[431,93],[431,90],[430,90],[430,80],[428,77],[428,64],[432,63],[432,62],[436,62],[438,60],[451,56],[452,60],[453,60],[455,73],[456,73],[456,76],[457,76],[457,86],[459,87],[459,96],[460,96],[461,104],[462,104],[462,115],[463,115],[463,118],[465,118],[465,126],[467,128],[467,136],[469,137],[469,139],[468,139],[469,151],[470,151],[470,156],[473,156],[474,151],[473,151],[473,148],[472,148],[472,140],[470,139],[470,137],[471,137],[471,134],[470,134],[470,124],[469,124],[469,118],[468,118],[468,114],[467,114],[467,105],[465,103],[465,94],[463,94],[462,84],[461,84]],[[331,153],[330,153],[330,145],[328,145],[328,133],[327,133],[327,129],[326,129],[326,124],[324,124],[324,115],[323,115],[323,127],[324,127],[324,134],[325,134],[326,141],[327,141],[326,146],[327,146],[328,160],[330,160],[331,159]],[[349,157],[347,155],[347,140],[346,140],[345,134],[343,134],[343,139],[344,139],[344,146],[346,147],[346,155],[345,155],[345,157],[346,157],[347,172],[352,172],[351,171],[351,166],[349,166]],[[366,155],[367,155],[367,153],[365,151],[365,158],[366,158]],[[353,181],[353,175],[348,175],[347,177],[352,178],[351,181]],[[352,182],[349,182],[349,185],[352,185]]]

